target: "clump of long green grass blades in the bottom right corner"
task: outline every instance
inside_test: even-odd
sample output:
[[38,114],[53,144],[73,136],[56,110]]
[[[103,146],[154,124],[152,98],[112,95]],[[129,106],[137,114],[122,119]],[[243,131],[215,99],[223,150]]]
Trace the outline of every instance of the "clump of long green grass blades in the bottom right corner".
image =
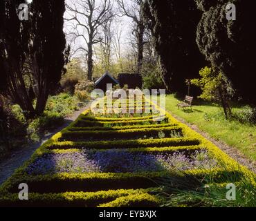
[[[226,166],[223,166],[223,169]],[[255,173],[244,173],[241,168],[237,173],[223,173],[214,182],[212,173],[202,179],[187,175],[185,179],[174,180],[173,177],[165,177],[161,180],[161,192],[163,197],[161,206],[165,207],[256,207]],[[241,175],[241,177],[240,177]],[[178,182],[177,182],[178,181]],[[215,180],[216,181],[216,180]],[[228,200],[226,189],[228,183],[236,186],[235,200]]]

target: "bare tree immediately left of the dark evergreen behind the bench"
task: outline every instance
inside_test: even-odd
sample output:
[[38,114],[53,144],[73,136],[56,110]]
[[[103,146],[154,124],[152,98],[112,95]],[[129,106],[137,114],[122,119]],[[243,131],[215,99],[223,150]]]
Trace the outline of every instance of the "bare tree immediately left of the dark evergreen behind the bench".
[[140,74],[140,70],[143,65],[143,35],[145,32],[145,23],[143,21],[143,3],[144,0],[130,0],[128,5],[127,1],[117,0],[120,8],[121,16],[127,16],[135,23],[134,33],[137,43],[137,73]]

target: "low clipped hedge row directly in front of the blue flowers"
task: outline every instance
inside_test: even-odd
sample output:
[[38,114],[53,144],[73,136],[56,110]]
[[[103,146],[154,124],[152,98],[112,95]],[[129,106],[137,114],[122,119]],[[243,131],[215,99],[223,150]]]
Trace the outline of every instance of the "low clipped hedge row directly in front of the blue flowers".
[[[118,189],[147,189],[158,187],[159,180],[164,177],[173,177],[178,180],[177,185],[182,182],[181,179],[188,179],[193,175],[203,179],[206,173],[212,173],[212,182],[223,181],[223,175],[228,177],[228,173],[237,173],[237,180],[227,180],[227,182],[237,182],[242,174],[239,171],[213,170],[190,170],[186,174],[176,171],[163,172],[145,172],[145,173],[57,173],[48,175],[15,175],[5,185],[4,190],[8,193],[17,193],[18,186],[22,182],[28,184],[30,193],[63,193],[73,192],[91,192],[108,191]],[[176,178],[175,178],[176,177]],[[173,183],[175,184],[175,182]],[[3,194],[3,193],[1,193]]]

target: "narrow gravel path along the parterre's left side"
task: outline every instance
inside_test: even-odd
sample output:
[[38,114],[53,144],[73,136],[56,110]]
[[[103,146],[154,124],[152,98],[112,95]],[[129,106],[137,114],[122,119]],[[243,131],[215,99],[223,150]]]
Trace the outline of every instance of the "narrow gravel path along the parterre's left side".
[[75,119],[77,119],[77,117],[82,112],[86,111],[86,109],[88,109],[89,106],[90,106],[90,104],[87,104],[84,108],[80,109],[80,111],[75,111],[71,115],[67,115],[65,117],[65,123],[62,126],[60,126],[59,128],[56,128],[54,131],[51,131],[51,133],[47,133],[46,135],[44,135],[44,137],[42,137],[41,142],[37,142],[35,144],[26,146],[17,151],[13,151],[9,157],[1,160],[1,162],[0,162],[0,185],[5,180],[7,180],[8,177],[10,177],[10,175],[12,175],[12,173],[19,166],[24,164],[24,162],[26,162],[26,160],[28,160],[31,157],[31,155],[33,155],[35,150],[37,148],[39,148],[39,146],[44,144],[44,142],[46,142],[48,139],[50,139],[55,133],[57,133],[58,131],[61,131],[63,128],[65,128],[66,126],[71,124],[71,122],[73,122]]

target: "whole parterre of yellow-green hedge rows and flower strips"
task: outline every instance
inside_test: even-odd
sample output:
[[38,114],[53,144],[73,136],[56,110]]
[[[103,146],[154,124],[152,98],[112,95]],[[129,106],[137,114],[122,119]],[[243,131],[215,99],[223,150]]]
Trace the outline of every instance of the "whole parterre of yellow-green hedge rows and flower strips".
[[[212,182],[223,182],[223,174],[237,173],[226,182],[239,182],[249,173],[155,104],[142,105],[154,106],[158,115],[82,113],[1,186],[0,205],[158,206],[161,197],[154,193],[163,177],[212,173]],[[28,184],[29,200],[19,200],[20,183]]]

